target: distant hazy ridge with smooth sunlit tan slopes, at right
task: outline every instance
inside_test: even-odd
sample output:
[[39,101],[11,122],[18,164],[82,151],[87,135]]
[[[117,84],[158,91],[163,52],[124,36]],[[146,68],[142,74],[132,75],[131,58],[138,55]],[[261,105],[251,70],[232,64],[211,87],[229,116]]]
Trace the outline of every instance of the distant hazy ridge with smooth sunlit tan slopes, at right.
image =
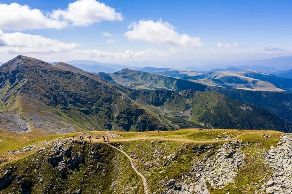
[[256,71],[246,71],[235,67],[203,71],[201,73],[180,69],[154,67],[146,67],[140,71],[188,79],[207,86],[273,92],[292,90],[292,80]]

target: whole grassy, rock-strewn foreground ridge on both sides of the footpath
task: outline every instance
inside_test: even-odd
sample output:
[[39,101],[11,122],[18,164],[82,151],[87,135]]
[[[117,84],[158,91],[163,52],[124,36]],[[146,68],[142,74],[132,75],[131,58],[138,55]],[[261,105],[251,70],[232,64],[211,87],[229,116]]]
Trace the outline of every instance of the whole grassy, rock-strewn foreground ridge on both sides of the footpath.
[[[292,193],[292,135],[235,132],[194,133],[209,140],[79,134],[107,135],[120,151],[96,138],[40,141],[2,154],[0,194]],[[122,150],[145,177],[147,191]]]

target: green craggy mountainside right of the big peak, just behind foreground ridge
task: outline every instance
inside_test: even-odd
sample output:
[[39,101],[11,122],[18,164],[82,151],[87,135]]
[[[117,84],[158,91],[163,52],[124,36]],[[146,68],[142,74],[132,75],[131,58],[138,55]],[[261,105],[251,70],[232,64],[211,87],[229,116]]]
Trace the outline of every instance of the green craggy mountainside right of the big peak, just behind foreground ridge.
[[271,112],[216,92],[144,91],[137,101],[162,117],[200,123],[207,128],[292,131],[292,124]]

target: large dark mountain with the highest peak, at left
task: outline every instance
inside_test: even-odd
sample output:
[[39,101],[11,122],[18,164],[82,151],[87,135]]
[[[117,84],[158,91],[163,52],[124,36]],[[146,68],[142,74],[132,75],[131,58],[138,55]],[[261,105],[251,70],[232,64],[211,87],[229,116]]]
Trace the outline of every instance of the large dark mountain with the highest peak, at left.
[[0,115],[29,121],[29,130],[174,129],[129,98],[129,90],[68,64],[18,56],[0,67],[0,83]]

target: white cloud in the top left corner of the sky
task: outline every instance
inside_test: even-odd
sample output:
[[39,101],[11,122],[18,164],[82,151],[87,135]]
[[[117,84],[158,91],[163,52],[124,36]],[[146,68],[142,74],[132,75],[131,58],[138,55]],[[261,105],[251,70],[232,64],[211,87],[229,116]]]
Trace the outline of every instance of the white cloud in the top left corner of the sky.
[[49,18],[48,14],[27,5],[0,4],[0,29],[29,30],[41,28],[64,28],[67,24]]

